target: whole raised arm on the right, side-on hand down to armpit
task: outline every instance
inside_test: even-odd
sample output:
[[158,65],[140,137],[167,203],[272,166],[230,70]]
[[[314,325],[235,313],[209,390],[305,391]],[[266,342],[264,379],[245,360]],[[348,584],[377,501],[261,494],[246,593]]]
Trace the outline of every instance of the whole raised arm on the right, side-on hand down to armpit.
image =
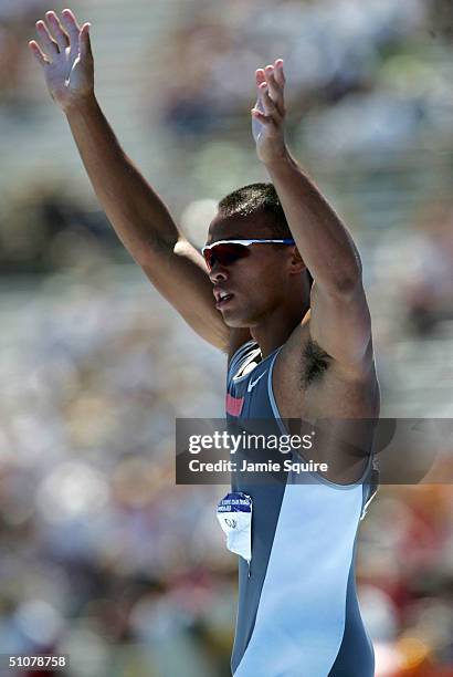
[[371,321],[352,238],[284,138],[283,61],[256,71],[252,127],[305,265],[314,278],[310,336],[345,374],[360,376],[372,360]]

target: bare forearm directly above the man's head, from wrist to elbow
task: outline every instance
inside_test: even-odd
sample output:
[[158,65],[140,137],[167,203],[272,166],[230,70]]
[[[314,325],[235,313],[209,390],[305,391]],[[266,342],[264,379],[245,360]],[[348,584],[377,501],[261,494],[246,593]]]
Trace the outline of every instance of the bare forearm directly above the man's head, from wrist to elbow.
[[265,164],[302,258],[319,287],[350,289],[361,274],[352,238],[334,209],[287,152]]

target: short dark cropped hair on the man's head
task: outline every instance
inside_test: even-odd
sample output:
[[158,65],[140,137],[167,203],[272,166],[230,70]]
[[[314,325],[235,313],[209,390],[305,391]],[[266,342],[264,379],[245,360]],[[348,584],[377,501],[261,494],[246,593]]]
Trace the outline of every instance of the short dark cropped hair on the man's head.
[[[270,215],[268,227],[276,238],[292,238],[282,202],[273,184],[249,184],[227,195],[220,200],[218,209],[221,216]],[[313,278],[307,269],[312,288]]]

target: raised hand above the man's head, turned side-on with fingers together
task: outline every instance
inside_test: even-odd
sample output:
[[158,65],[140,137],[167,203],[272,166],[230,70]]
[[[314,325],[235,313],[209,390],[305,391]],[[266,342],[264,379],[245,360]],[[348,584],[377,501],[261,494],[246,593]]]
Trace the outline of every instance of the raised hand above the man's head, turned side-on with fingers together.
[[252,133],[262,163],[271,163],[285,155],[285,75],[283,59],[255,72],[257,101],[251,111]]

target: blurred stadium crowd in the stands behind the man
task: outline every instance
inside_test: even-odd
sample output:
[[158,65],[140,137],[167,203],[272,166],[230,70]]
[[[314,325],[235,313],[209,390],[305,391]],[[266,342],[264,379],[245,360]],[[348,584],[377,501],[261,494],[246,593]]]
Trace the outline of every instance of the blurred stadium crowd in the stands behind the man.
[[[0,653],[67,653],[77,677],[223,677],[225,488],[175,486],[173,433],[222,416],[224,357],[130,264],[46,98],[27,41],[62,7],[0,0]],[[72,8],[108,117],[196,244],[215,200],[265,180],[253,73],[285,60],[289,145],[362,256],[382,414],[452,417],[452,3]],[[447,483],[382,487],[361,525],[377,677],[453,676],[452,512]]]

